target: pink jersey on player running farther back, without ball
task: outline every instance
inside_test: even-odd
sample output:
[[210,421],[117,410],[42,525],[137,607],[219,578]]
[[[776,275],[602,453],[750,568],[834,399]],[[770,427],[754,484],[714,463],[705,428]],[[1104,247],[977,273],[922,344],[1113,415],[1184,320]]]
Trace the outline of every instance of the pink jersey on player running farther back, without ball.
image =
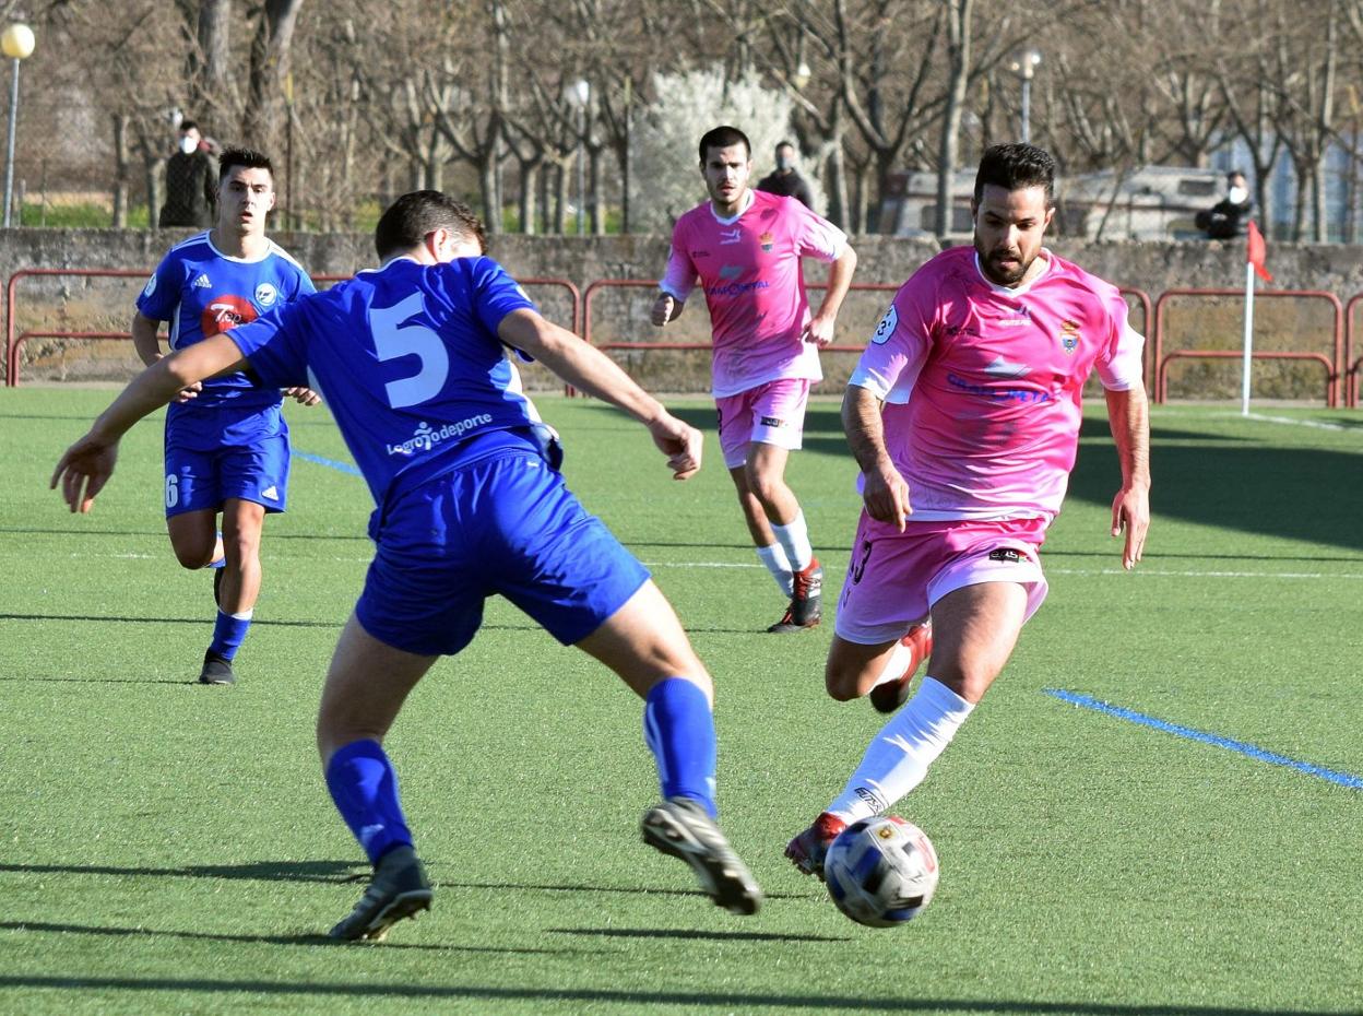
[[748,194],[733,218],[718,218],[710,202],[682,215],[658,284],[684,301],[699,275],[714,334],[716,398],[781,378],[823,379],[818,348],[800,340],[810,320],[800,258],[837,260],[848,240],[793,198]]

